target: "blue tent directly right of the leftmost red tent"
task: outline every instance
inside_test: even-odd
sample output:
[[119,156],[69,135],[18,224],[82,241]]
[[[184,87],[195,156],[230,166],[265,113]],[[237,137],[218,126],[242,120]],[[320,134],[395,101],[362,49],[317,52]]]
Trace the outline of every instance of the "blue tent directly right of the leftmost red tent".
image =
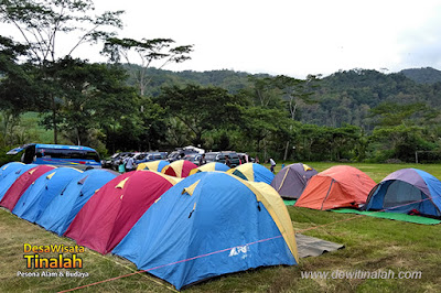
[[73,167],[57,167],[44,173],[23,193],[12,214],[34,223],[51,200],[82,173]]

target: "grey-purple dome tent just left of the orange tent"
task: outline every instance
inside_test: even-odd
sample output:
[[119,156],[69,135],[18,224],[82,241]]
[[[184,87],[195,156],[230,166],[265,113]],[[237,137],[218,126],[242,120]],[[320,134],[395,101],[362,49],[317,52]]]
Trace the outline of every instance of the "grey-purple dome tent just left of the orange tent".
[[295,163],[283,167],[271,182],[271,186],[286,198],[299,198],[308,181],[318,174],[309,165]]

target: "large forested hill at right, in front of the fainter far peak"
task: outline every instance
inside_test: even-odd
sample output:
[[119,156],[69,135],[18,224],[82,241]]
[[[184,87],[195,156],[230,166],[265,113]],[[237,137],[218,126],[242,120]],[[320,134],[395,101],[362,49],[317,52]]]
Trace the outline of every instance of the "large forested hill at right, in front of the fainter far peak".
[[399,73],[353,69],[322,78],[314,98],[316,104],[301,108],[302,122],[330,127],[348,123],[372,130],[375,121],[370,110],[384,102],[421,102],[439,109],[441,83],[418,84]]

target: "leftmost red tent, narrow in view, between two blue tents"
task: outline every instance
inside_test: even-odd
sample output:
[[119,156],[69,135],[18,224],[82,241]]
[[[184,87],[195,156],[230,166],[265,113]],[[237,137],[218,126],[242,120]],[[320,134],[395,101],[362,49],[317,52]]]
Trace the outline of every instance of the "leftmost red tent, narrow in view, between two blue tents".
[[15,182],[9,187],[8,192],[4,194],[3,198],[0,202],[0,206],[12,210],[15,207],[17,202],[19,202],[20,197],[28,189],[31,184],[36,181],[44,173],[55,169],[50,165],[39,165],[36,167],[30,169],[24,172],[20,177],[15,180]]

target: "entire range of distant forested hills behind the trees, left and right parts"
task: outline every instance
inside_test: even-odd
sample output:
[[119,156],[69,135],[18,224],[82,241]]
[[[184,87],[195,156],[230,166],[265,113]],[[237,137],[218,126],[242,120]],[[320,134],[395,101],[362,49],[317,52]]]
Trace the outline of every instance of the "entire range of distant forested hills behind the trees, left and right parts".
[[[136,68],[136,67],[135,67]],[[429,80],[434,80],[439,70],[409,69],[416,73],[423,70]],[[441,83],[421,84],[401,73],[383,74],[368,69],[352,69],[334,73],[320,79],[312,100],[305,105],[299,101],[297,120],[319,126],[341,127],[345,123],[362,127],[370,131],[375,121],[370,118],[370,109],[381,102],[415,104],[422,102],[431,108],[440,108]],[[430,75],[433,73],[433,75]],[[157,96],[162,86],[172,84],[198,84],[216,86],[237,93],[251,87],[249,74],[234,70],[211,72],[171,72],[149,68],[151,80],[147,93]],[[133,75],[132,75],[133,76]],[[431,77],[430,77],[431,76]],[[261,74],[254,77],[270,77]],[[132,79],[135,84],[135,80]]]

